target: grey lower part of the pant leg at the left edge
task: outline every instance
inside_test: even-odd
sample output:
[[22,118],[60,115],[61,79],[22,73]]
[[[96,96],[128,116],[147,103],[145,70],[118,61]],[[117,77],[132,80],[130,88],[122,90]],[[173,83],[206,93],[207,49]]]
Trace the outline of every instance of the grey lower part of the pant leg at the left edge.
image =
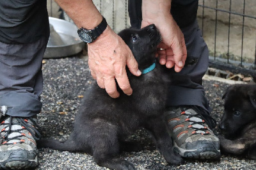
[[42,59],[48,37],[33,43],[0,42],[0,109],[3,114],[30,117],[42,109]]

